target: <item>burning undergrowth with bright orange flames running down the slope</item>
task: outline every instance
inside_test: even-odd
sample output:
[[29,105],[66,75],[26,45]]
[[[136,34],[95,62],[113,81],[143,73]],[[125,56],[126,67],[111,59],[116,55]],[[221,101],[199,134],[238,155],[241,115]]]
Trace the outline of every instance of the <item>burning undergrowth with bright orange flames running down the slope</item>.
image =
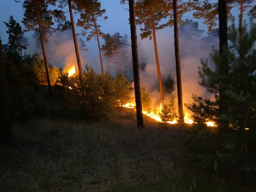
[[[106,73],[106,77],[102,82],[102,77],[101,74],[95,73],[93,68],[90,68],[86,66],[86,72],[84,73],[85,75],[85,84],[86,84],[86,91],[87,91],[87,96],[86,98],[89,99],[90,102],[90,107],[94,108],[95,104],[98,103],[100,104],[97,108],[98,110],[101,110],[100,108],[104,105],[107,106],[115,106],[115,107],[121,107],[122,110],[123,108],[132,108],[135,110],[135,102],[134,98],[131,97],[132,93],[132,84],[125,78],[125,76],[121,73],[120,75],[117,75],[115,77],[109,76],[108,73]],[[66,76],[65,80],[66,83],[63,84],[65,87],[70,89],[70,92],[73,92],[73,104],[76,105],[79,101],[78,97],[75,99],[75,95],[80,95],[81,96],[81,87],[79,87],[79,77],[78,77],[78,72],[75,70],[74,65],[70,65],[67,69],[63,71],[64,76]],[[90,74],[90,75],[89,75]],[[63,78],[62,78],[63,79]],[[76,79],[76,81],[74,81]],[[74,83],[76,82],[76,83]],[[62,82],[63,83],[63,82]],[[94,87],[94,88],[93,88]],[[143,87],[143,86],[142,86]],[[145,88],[145,87],[144,87]],[[92,90],[94,89],[94,90]],[[152,100],[151,99],[151,94],[149,90],[144,90],[144,92],[147,91],[146,93],[148,95],[144,97],[150,97],[150,98],[144,98],[144,100]],[[96,96],[97,95],[97,96]],[[70,98],[68,98],[70,100]],[[80,97],[80,100],[82,101],[82,97]],[[144,100],[142,100],[142,105],[143,105],[143,114],[146,116],[158,121],[158,122],[165,122],[168,124],[177,124],[179,123],[179,118],[176,115],[176,110],[175,110],[175,102],[174,102],[174,97],[172,100],[172,105],[171,106],[172,112],[168,112],[169,116],[172,116],[173,118],[168,119],[168,120],[163,120],[161,114],[165,113],[164,110],[162,109],[161,105],[159,107],[151,106],[151,102],[147,102],[146,105]],[[76,101],[76,102],[75,102]],[[110,102],[108,102],[110,101]],[[107,104],[108,102],[108,104]],[[166,105],[166,106],[170,106]],[[194,121],[190,119],[190,116],[185,113],[184,114],[184,121],[187,124],[193,124]],[[207,126],[216,126],[214,122],[206,122]]]

